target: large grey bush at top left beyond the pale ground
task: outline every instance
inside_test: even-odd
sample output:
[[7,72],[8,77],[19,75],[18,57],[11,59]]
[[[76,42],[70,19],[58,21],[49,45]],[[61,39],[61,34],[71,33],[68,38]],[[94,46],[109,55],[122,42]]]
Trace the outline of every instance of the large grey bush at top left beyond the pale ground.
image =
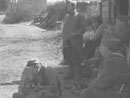
[[34,19],[40,10],[46,8],[46,0],[18,0],[8,2],[4,23],[12,24]]

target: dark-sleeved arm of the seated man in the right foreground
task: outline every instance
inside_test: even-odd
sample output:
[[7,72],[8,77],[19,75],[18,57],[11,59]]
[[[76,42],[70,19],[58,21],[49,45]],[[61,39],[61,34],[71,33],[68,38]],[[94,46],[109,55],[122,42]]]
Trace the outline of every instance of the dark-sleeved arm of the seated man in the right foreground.
[[[107,88],[113,84],[119,77],[118,65],[121,64],[119,61],[108,60],[102,67],[102,72],[91,82],[91,87],[94,88]],[[116,68],[117,67],[117,68]]]

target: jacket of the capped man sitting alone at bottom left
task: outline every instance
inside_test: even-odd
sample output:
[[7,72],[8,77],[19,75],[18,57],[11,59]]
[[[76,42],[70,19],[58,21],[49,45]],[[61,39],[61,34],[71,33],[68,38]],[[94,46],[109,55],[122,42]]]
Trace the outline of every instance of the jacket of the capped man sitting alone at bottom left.
[[32,73],[31,68],[24,69],[21,83],[19,85],[19,92],[29,95],[30,93],[35,92],[34,86],[38,85],[45,86],[46,90],[56,94],[56,96],[61,94],[62,88],[60,80],[51,67],[45,68],[42,66],[37,75]]

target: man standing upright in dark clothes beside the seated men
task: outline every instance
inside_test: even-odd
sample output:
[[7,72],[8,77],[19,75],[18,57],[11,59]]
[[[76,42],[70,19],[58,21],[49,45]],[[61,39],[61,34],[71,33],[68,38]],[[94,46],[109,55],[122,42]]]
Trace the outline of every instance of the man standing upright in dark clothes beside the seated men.
[[75,11],[73,2],[67,3],[68,15],[63,26],[63,49],[65,60],[69,65],[69,75],[66,79],[80,79],[83,34],[85,33],[85,18]]

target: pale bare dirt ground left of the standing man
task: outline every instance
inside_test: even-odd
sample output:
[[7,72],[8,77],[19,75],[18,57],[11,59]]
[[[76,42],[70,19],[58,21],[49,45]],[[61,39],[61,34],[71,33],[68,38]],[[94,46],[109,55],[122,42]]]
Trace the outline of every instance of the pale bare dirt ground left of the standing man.
[[[0,16],[0,21],[4,16]],[[39,58],[44,65],[62,70],[60,31],[45,31],[29,23],[0,23],[0,98],[12,98],[26,61]],[[62,98],[76,98],[69,90]]]

